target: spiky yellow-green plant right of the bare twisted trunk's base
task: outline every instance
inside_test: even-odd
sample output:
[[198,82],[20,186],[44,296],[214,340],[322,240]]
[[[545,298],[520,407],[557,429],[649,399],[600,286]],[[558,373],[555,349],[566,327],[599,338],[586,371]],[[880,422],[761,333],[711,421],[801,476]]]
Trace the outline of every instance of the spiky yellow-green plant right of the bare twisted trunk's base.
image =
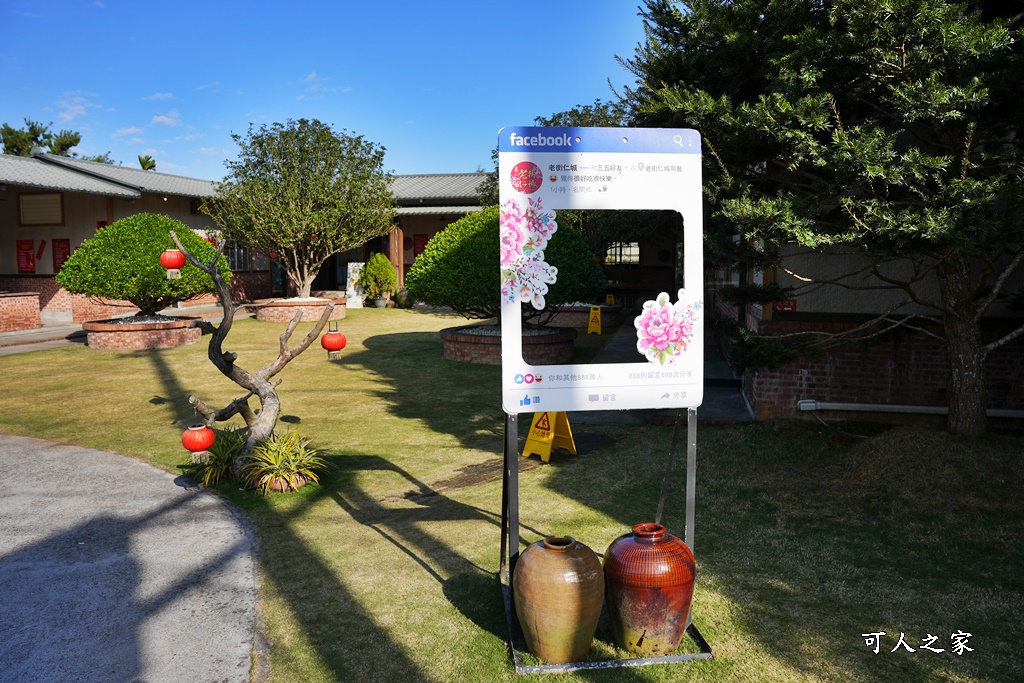
[[318,449],[309,439],[299,435],[299,430],[289,431],[257,445],[251,460],[242,467],[247,486],[262,488],[265,496],[275,483],[284,483],[285,490],[295,490],[305,480],[319,483],[317,470],[327,467]]

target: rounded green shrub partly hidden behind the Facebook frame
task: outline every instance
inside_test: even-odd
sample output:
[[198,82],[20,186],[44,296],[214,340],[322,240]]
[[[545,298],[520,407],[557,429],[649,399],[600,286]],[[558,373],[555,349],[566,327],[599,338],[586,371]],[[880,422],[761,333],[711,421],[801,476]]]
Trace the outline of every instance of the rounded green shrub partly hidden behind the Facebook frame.
[[[499,209],[488,207],[452,223],[431,238],[406,275],[410,296],[431,306],[450,306],[465,317],[496,317],[501,307]],[[545,295],[544,312],[577,301],[597,301],[605,290],[604,271],[583,239],[560,227],[544,250],[558,268]],[[541,311],[524,305],[526,317]]]

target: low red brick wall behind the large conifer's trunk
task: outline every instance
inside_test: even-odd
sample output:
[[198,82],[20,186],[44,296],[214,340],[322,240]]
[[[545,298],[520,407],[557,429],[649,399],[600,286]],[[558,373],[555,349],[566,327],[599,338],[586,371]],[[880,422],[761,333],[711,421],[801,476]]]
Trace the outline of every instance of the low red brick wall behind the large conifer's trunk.
[[[842,323],[764,321],[760,331],[787,334],[808,330],[841,332]],[[1005,333],[1005,331],[1002,331]],[[990,330],[986,339],[999,330]],[[1024,337],[989,354],[986,360],[989,408],[1024,409]],[[849,343],[814,360],[776,370],[749,371],[743,391],[758,419],[797,417],[803,399],[854,403],[948,405],[949,365],[945,345],[912,333],[886,341]]]

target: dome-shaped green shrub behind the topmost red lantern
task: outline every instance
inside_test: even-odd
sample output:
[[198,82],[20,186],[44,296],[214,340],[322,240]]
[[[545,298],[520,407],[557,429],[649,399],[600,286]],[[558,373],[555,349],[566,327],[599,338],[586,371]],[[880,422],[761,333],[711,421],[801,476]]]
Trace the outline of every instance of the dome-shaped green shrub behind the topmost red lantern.
[[[208,263],[216,248],[179,220],[137,213],[101,227],[75,250],[56,275],[72,294],[127,300],[143,314],[156,313],[178,301],[215,292],[213,279],[191,263],[180,280],[168,280],[160,255],[173,246],[170,232],[198,259]],[[230,268],[223,256],[217,263],[225,282]]]

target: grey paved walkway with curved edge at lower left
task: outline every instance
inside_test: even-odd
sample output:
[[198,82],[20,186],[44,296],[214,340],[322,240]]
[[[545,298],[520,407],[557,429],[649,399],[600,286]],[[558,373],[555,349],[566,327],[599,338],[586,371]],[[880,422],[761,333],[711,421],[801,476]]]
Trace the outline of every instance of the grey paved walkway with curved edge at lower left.
[[[248,681],[254,535],[180,477],[0,435],[0,681]],[[257,657],[259,660],[259,657]]]

